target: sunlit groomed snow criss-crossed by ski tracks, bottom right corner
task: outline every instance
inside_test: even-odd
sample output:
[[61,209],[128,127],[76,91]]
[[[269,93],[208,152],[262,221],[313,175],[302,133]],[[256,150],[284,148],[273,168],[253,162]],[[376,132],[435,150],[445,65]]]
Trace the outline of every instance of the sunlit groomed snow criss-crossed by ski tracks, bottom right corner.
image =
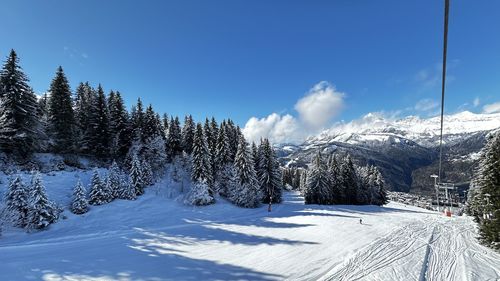
[[[486,255],[473,233],[473,227],[463,218],[429,215],[376,240],[320,279],[500,280],[500,255]],[[416,259],[418,256],[422,259]],[[497,264],[497,268],[490,268],[490,277],[484,279],[485,275],[478,272],[484,270],[481,264]],[[420,274],[416,275],[419,267]]]

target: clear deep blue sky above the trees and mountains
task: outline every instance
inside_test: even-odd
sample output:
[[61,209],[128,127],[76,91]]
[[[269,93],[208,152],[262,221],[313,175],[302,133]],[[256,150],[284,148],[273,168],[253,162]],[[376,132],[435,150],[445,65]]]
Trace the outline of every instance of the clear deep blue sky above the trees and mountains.
[[[451,1],[448,112],[500,101],[499,11],[496,0]],[[140,96],[241,126],[302,119],[298,101],[321,81],[341,98],[317,126],[438,109],[443,1],[7,0],[0,19],[0,56],[14,48],[37,92],[62,65],[72,89],[102,83],[129,105]]]

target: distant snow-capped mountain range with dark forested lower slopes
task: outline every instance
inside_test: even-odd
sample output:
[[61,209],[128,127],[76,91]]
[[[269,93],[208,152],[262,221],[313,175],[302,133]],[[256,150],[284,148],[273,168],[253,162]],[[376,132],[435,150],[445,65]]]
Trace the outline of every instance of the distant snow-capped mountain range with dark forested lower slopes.
[[[443,181],[466,188],[486,136],[500,128],[500,113],[469,111],[446,115],[443,128]],[[303,144],[281,144],[283,165],[304,167],[320,149],[349,153],[361,165],[379,167],[391,190],[432,192],[438,172],[440,117],[402,119],[367,114],[349,123],[339,123]]]

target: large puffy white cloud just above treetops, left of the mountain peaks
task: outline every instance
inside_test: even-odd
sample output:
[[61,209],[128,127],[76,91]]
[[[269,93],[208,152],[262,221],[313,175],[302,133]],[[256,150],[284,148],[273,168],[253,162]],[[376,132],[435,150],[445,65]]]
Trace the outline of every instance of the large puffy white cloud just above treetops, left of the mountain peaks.
[[250,118],[243,134],[249,141],[269,138],[273,143],[299,143],[310,134],[330,125],[344,106],[344,94],[328,82],[316,84],[295,104],[298,118],[272,113],[264,118]]

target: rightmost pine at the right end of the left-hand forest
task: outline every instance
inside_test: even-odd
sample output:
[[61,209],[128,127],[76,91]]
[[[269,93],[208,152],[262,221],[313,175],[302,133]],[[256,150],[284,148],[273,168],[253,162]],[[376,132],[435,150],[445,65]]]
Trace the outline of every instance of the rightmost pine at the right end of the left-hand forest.
[[259,181],[261,192],[264,194],[263,203],[279,203],[281,202],[281,172],[268,139],[261,141],[259,151]]

